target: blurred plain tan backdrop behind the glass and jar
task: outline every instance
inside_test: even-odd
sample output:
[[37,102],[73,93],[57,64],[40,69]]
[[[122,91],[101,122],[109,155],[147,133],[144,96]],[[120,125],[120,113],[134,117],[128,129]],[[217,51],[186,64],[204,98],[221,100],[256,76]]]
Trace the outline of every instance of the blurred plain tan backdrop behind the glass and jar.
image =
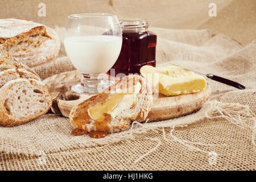
[[[39,16],[38,5],[46,5]],[[210,17],[210,3],[217,16]],[[148,19],[150,27],[209,29],[243,46],[256,38],[256,0],[0,0],[0,18],[18,18],[63,27],[69,14],[112,13],[118,18]]]

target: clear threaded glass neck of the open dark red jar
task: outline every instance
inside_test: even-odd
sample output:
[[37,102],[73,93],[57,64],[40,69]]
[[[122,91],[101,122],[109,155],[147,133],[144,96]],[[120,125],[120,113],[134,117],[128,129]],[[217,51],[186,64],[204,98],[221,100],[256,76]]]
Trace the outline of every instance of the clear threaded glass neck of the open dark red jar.
[[147,31],[148,21],[139,18],[119,19],[122,31],[124,32],[143,32]]

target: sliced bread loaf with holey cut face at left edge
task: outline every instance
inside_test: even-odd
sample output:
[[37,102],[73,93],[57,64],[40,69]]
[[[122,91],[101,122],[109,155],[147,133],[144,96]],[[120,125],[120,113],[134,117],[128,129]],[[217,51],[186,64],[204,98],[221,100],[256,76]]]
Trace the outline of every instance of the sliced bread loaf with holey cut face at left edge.
[[[4,67],[1,67],[5,65]],[[47,113],[52,105],[40,77],[20,61],[0,57],[0,125],[15,126]],[[11,69],[9,69],[11,68]]]

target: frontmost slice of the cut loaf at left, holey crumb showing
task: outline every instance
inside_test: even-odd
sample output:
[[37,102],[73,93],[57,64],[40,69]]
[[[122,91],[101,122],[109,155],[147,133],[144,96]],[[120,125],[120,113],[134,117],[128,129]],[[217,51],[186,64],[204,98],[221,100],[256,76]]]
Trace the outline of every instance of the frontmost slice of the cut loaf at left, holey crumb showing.
[[34,79],[18,78],[0,89],[0,124],[15,126],[38,118],[51,108],[47,87]]

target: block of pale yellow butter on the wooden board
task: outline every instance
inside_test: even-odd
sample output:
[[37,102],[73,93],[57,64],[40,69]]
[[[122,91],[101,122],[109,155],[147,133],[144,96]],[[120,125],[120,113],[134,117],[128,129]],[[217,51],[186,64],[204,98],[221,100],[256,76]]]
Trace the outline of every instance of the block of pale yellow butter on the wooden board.
[[200,92],[207,86],[205,78],[188,69],[167,65],[155,68],[145,65],[141,74],[153,88],[166,96]]

